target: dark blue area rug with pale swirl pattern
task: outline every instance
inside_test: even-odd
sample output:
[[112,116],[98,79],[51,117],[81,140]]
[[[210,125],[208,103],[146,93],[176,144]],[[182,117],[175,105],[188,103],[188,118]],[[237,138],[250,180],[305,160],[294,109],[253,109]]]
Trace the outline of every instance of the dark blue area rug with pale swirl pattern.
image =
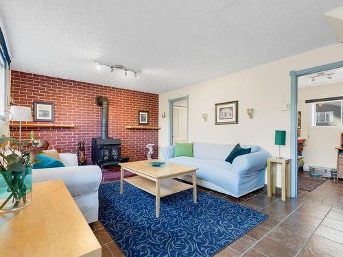
[[189,189],[161,198],[124,182],[99,187],[99,221],[126,256],[213,256],[268,218],[261,212]]

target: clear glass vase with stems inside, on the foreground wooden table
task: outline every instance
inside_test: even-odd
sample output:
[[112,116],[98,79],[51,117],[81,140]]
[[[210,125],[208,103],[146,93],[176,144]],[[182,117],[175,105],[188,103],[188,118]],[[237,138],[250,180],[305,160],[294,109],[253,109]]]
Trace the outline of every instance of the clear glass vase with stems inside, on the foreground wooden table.
[[32,202],[32,168],[0,172],[0,212],[25,208]]

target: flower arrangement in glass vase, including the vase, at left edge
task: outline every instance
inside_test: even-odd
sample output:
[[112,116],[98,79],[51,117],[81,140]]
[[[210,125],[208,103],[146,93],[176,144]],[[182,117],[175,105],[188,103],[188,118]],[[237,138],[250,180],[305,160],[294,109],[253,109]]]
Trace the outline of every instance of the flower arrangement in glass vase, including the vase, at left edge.
[[33,132],[30,142],[0,137],[0,212],[23,208],[31,202],[32,164],[47,147],[49,143],[44,139],[35,143]]

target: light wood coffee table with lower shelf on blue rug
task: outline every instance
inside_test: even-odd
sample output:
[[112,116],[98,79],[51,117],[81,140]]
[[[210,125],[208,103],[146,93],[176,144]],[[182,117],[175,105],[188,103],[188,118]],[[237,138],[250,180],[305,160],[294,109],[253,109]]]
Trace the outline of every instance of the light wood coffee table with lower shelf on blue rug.
[[[152,167],[147,162],[154,160],[142,160],[139,162],[120,163],[120,193],[123,193],[123,181],[141,188],[143,191],[156,197],[156,218],[160,217],[160,198],[193,188],[193,202],[196,204],[196,168],[186,167],[167,162],[162,167]],[[137,176],[125,178],[124,171],[130,171]],[[193,184],[186,184],[174,178],[180,175],[192,175]]]

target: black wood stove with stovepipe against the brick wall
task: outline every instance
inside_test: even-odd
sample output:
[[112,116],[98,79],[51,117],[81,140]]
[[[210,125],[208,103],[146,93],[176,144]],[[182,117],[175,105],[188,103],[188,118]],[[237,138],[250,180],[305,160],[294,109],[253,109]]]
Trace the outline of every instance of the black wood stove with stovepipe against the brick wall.
[[118,164],[121,161],[121,140],[108,138],[108,99],[96,97],[97,106],[102,106],[102,137],[92,138],[92,162],[99,166]]

